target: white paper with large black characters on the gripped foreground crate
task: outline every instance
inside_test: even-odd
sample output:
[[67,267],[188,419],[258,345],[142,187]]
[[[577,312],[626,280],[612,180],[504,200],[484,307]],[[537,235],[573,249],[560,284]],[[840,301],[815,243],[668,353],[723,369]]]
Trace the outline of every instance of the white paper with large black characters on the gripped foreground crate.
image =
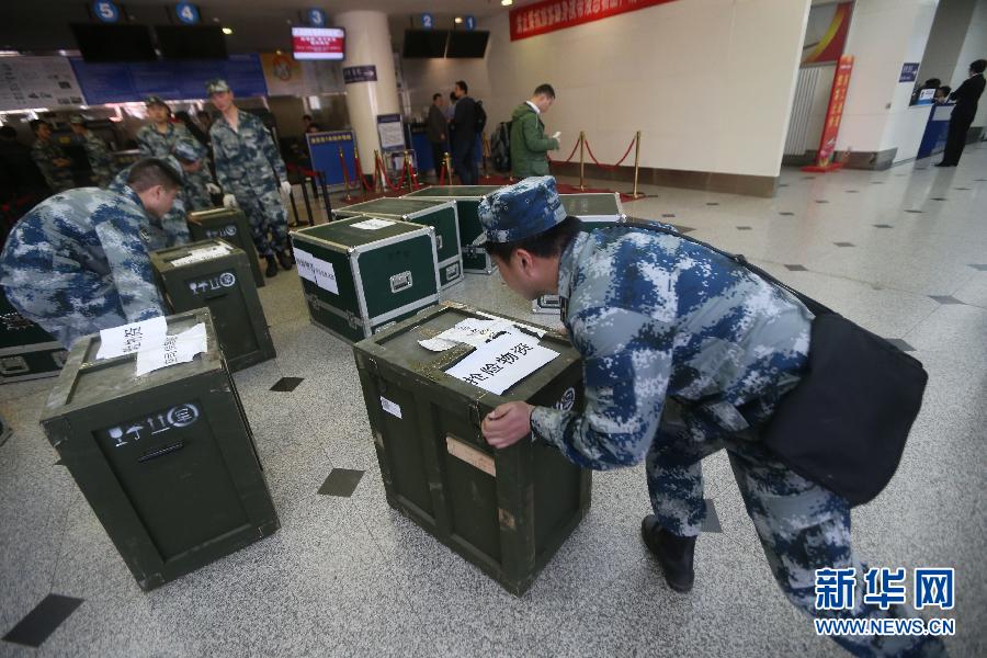
[[501,395],[504,390],[558,356],[537,339],[523,333],[507,333],[477,350],[445,371],[449,375]]

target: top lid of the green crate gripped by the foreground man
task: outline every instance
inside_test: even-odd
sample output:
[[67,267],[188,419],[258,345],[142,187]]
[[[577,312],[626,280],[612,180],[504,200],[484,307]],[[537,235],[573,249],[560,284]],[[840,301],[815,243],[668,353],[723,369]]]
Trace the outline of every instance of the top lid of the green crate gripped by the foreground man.
[[[538,338],[538,344],[557,352],[558,356],[512,385],[502,396],[495,395],[445,372],[472,354],[475,348],[460,344],[444,352],[432,352],[418,342],[435,338],[467,318],[502,318],[518,322],[522,327],[533,327],[529,322],[520,322],[507,316],[488,314],[464,304],[444,302],[353,345],[358,363],[365,367],[373,362],[372,368],[395,371],[407,376],[409,385],[432,383],[462,397],[472,400],[483,399],[487,405],[497,406],[508,399],[530,399],[580,359],[579,352],[561,333],[537,327],[545,331],[545,334]],[[529,334],[534,336],[531,332]]]

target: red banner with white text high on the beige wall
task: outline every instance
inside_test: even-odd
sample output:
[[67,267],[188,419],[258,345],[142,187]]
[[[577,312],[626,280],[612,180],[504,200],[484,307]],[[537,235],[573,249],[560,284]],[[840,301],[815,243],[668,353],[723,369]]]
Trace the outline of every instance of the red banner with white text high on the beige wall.
[[511,41],[646,9],[674,0],[544,0],[511,10]]

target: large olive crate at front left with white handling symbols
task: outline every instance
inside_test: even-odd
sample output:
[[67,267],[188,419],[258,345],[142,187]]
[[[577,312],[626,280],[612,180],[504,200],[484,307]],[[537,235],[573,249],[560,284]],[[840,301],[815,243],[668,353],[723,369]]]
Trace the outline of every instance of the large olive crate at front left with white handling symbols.
[[150,590],[279,527],[250,426],[209,311],[207,350],[136,375],[136,353],[97,360],[100,336],[76,342],[42,427],[127,568]]

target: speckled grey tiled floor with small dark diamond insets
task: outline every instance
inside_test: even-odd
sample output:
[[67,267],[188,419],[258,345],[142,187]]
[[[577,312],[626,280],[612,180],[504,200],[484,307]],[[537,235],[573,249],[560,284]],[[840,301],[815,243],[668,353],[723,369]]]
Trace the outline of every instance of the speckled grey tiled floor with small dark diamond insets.
[[[926,405],[894,481],[854,511],[855,546],[871,566],[955,567],[948,646],[984,656],[987,146],[957,169],[928,164],[785,170],[771,200],[650,188],[627,209],[673,215],[914,349]],[[690,595],[640,543],[640,467],[595,474],[589,515],[525,597],[507,594],[387,507],[350,347],[309,325],[297,277],[260,293],[279,358],[236,379],[283,527],[151,593],[56,465],[37,426],[50,381],[0,387],[14,428],[0,447],[0,634],[49,594],[82,600],[49,600],[38,615],[65,621],[39,648],[0,642],[0,655],[841,655],[775,587],[723,454],[704,463],[718,523],[699,541]],[[450,297],[547,318],[497,275]]]

